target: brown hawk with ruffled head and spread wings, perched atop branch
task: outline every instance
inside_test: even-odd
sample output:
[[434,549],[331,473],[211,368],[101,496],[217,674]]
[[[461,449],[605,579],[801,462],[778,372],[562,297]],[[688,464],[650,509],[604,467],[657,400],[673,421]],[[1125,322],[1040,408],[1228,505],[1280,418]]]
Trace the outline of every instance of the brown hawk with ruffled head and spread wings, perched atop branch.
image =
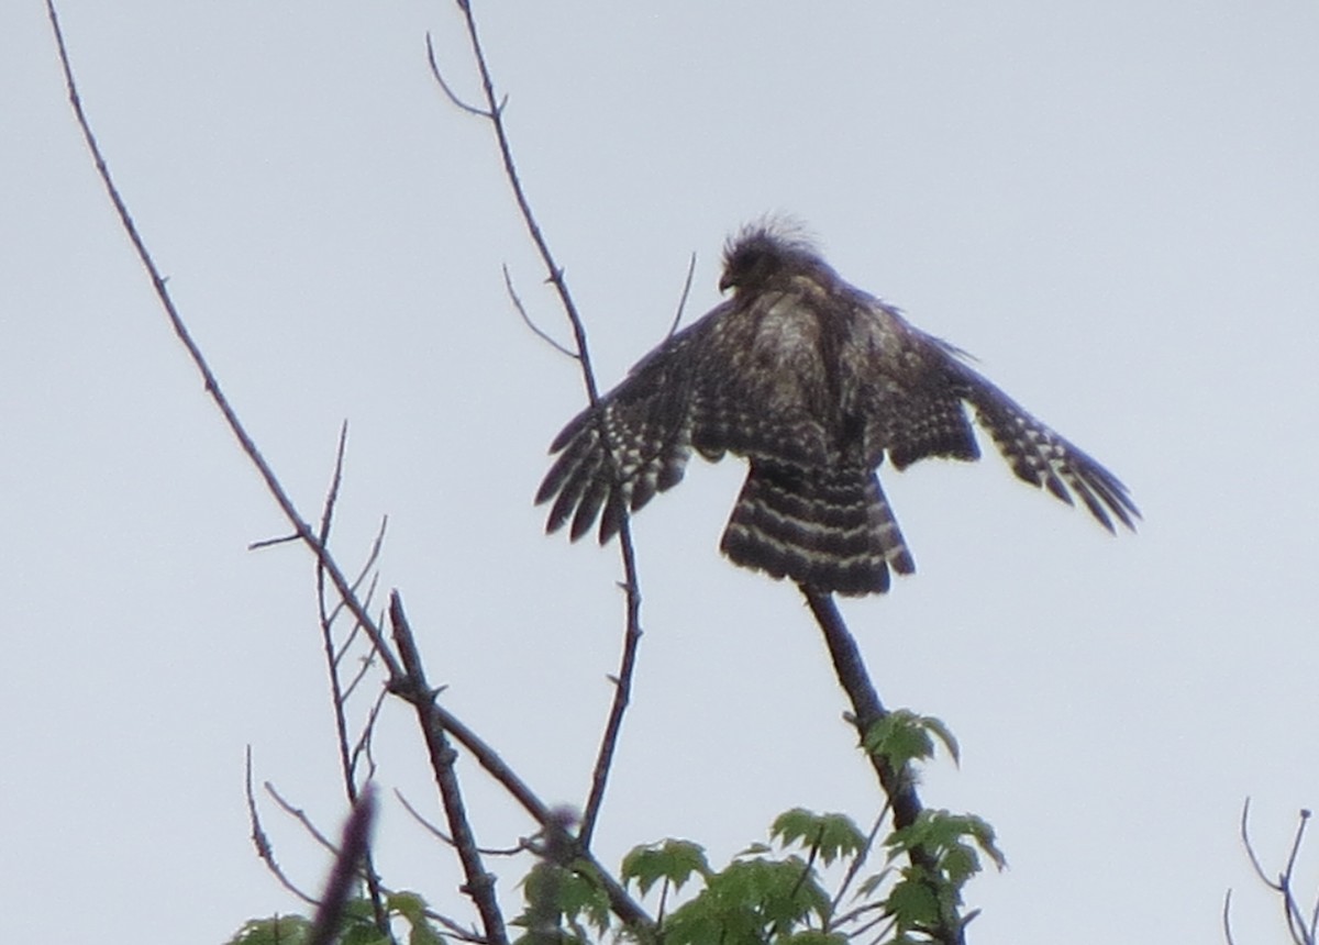
[[876,474],[929,456],[976,460],[973,416],[1013,472],[1109,531],[1140,511],[1126,488],[969,368],[966,355],[845,282],[781,223],[724,246],[732,295],[646,355],[550,445],[536,496],[546,531],[604,544],[691,451],[749,461],[720,550],[735,564],[820,592],[882,593],[915,569]]

